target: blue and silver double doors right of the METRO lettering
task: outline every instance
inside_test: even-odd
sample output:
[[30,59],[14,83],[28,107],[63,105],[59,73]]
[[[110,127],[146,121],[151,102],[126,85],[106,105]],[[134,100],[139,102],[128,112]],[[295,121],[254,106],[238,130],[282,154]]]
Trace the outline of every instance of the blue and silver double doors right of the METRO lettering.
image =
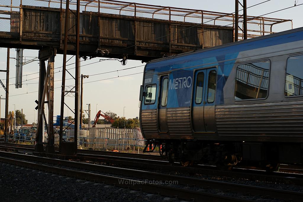
[[215,131],[216,68],[195,72],[192,123],[196,132]]

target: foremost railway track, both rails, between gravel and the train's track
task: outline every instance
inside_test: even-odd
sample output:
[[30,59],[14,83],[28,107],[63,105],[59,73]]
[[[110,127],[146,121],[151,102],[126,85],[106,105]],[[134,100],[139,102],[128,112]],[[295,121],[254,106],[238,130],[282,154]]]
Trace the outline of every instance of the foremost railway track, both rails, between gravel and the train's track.
[[[117,167],[110,167],[105,165],[94,165],[82,162],[73,162],[73,161],[66,161],[66,160],[59,160],[59,159],[51,159],[45,157],[37,157],[37,156],[29,156],[23,154],[15,154],[11,152],[0,152],[0,161],[20,165],[25,167],[30,167],[33,169],[38,169],[46,172],[53,172],[60,175],[67,175],[71,177],[76,177],[80,179],[86,179],[89,181],[96,181],[96,182],[105,182],[106,184],[115,184],[116,186],[121,187],[128,187],[130,184],[135,185],[131,186],[131,189],[139,190],[139,191],[146,191],[150,193],[159,193],[161,195],[166,195],[169,197],[178,197],[180,199],[185,200],[195,200],[195,201],[249,201],[245,199],[237,199],[231,198],[226,196],[220,196],[218,194],[209,194],[209,193],[201,193],[201,191],[193,191],[193,190],[186,190],[178,187],[171,187],[171,186],[164,186],[164,185],[157,185],[153,183],[149,183],[146,181],[140,180],[132,180],[129,178],[121,178],[121,177],[113,177],[108,175],[100,175],[95,173],[89,173],[89,171],[98,171],[102,173],[114,173],[115,175],[122,175],[122,176],[131,176],[132,178],[139,178],[145,179],[149,181],[177,181],[178,185],[186,185],[186,186],[195,186],[201,188],[208,188],[208,189],[220,189],[222,191],[227,192],[236,192],[241,194],[251,194],[251,195],[266,195],[271,198],[278,198],[281,200],[292,200],[292,201],[301,201],[303,197],[303,193],[295,192],[295,191],[285,191],[281,189],[273,189],[273,188],[264,188],[258,186],[249,186],[243,184],[235,184],[235,183],[228,183],[222,181],[213,181],[213,180],[203,180],[198,178],[191,178],[191,177],[183,177],[178,175],[167,175],[157,172],[146,172],[140,170],[132,170],[126,168],[117,168]],[[5,157],[4,157],[5,156]],[[14,159],[12,159],[14,158]],[[17,160],[22,159],[22,160]],[[30,161],[35,162],[43,162],[50,165],[43,165],[41,163],[33,163]],[[60,168],[60,166],[67,166],[67,168]],[[58,167],[57,167],[58,166]],[[85,171],[77,171],[73,170],[72,168],[77,169],[85,169]],[[119,183],[119,180],[127,181],[125,184]],[[137,184],[139,186],[137,186]]]

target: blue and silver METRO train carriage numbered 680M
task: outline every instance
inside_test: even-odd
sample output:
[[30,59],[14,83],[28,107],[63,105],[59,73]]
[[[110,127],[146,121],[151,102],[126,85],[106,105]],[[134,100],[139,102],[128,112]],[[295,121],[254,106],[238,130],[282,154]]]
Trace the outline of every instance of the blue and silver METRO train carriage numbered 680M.
[[159,146],[184,166],[302,163],[302,80],[303,28],[152,60],[140,90],[145,151]]

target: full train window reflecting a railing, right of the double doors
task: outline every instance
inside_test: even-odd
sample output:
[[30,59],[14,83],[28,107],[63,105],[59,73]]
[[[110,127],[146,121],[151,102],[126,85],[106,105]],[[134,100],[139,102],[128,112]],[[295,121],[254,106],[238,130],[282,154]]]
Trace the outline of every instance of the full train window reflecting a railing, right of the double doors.
[[237,66],[235,100],[266,98],[270,61]]

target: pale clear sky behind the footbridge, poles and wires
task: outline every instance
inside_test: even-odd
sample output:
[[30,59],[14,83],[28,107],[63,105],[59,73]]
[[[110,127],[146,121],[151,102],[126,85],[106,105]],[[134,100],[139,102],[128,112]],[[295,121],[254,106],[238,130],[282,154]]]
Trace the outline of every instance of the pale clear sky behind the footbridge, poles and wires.
[[[255,5],[265,0],[248,0],[247,6]],[[235,0],[217,0],[217,1],[196,1],[196,0],[174,0],[174,1],[160,1],[160,0],[135,0],[132,2],[143,3],[143,4],[153,4],[160,6],[170,6],[170,7],[178,7],[178,8],[189,8],[189,9],[197,9],[197,10],[206,10],[206,11],[217,11],[223,13],[233,13],[235,10]],[[297,0],[297,5],[302,4],[303,0]],[[271,0],[269,2],[263,3],[261,5],[248,8],[247,14],[251,16],[259,16],[264,15],[273,11],[277,11],[283,8],[288,8],[295,4],[294,0]],[[293,20],[293,28],[303,27],[302,22],[302,11],[303,5],[296,6],[294,8],[286,9],[284,11],[275,12],[272,14],[264,15],[269,18],[282,18],[282,19],[292,19]],[[1,46],[1,44],[0,44]],[[0,48],[0,67],[1,69],[6,69],[6,48]],[[23,55],[26,59],[32,59],[30,57],[37,57],[38,50],[24,50]],[[10,50],[10,56],[15,57],[16,52],[15,49]],[[68,55],[69,59],[71,56]],[[61,88],[57,88],[61,86],[62,79],[62,55],[57,55],[55,57],[55,91],[54,91],[54,116],[60,114],[60,102],[61,102]],[[81,62],[81,65],[97,62],[102,58],[95,58],[91,60],[86,60]],[[74,63],[74,57],[67,63]],[[145,63],[141,63],[141,61],[136,60],[128,60],[126,66],[122,66],[119,61],[116,60],[108,60],[95,64],[90,64],[81,67],[80,75],[91,75],[89,78],[84,79],[84,91],[83,91],[83,110],[88,109],[88,105],[91,104],[91,119],[95,118],[95,114],[97,111],[101,110],[103,112],[112,111],[116,113],[118,116],[128,118],[135,118],[139,116],[139,91],[140,85],[142,85],[143,79],[143,69]],[[15,77],[15,59],[10,59],[10,78]],[[94,75],[109,71],[116,71],[120,69],[141,66],[129,70]],[[67,66],[67,69],[73,68],[73,65]],[[16,110],[23,109],[24,114],[26,115],[26,119],[28,119],[28,123],[33,123],[34,120],[37,120],[37,111],[35,110],[36,103],[35,100],[38,99],[38,73],[32,74],[39,71],[38,61],[32,62],[23,66],[23,85],[22,88],[15,88],[15,78],[10,79],[9,83],[9,111],[13,111],[14,107]],[[72,74],[74,74],[74,69],[70,70]],[[138,74],[135,74],[138,73]],[[29,75],[32,74],[32,75]],[[135,74],[130,76],[123,76]],[[94,75],[94,76],[93,76]],[[112,77],[119,78],[109,79]],[[123,77],[121,77],[123,76]],[[0,79],[5,79],[5,72],[0,72]],[[74,80],[72,77],[66,74],[66,85],[73,85]],[[29,80],[32,79],[32,80]],[[105,80],[102,80],[105,79]],[[98,82],[91,82],[96,80],[102,80]],[[4,81],[5,82],[5,81]],[[85,82],[91,82],[86,83]],[[33,92],[33,93],[31,93]],[[23,94],[23,95],[19,95]],[[0,95],[2,98],[5,98],[5,91],[3,88],[0,89]],[[80,95],[80,94],[79,94]],[[65,103],[68,104],[71,109],[74,109],[74,98],[65,97]],[[14,105],[15,104],[15,105]],[[98,104],[98,105],[97,105]],[[0,103],[0,116],[5,117],[5,100],[1,99]],[[72,112],[65,107],[65,116],[73,116]],[[87,114],[86,114],[87,117]]]

